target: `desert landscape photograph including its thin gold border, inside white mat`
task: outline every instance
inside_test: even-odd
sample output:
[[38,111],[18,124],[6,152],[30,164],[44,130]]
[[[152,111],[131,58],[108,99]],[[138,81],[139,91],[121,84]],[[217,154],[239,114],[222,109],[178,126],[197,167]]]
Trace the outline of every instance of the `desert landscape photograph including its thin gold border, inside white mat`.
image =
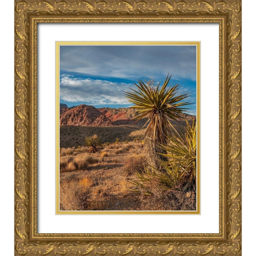
[[58,213],[198,211],[198,44],[57,47]]

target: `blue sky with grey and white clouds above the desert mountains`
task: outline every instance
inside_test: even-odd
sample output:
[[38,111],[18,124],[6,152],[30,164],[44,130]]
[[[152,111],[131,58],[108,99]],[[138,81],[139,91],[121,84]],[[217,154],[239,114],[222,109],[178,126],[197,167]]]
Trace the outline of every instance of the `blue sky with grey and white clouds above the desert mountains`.
[[[196,46],[63,45],[60,46],[60,102],[68,107],[129,107],[124,91],[138,79],[180,84],[189,93],[189,114],[196,114]],[[161,84],[162,84],[161,83]]]

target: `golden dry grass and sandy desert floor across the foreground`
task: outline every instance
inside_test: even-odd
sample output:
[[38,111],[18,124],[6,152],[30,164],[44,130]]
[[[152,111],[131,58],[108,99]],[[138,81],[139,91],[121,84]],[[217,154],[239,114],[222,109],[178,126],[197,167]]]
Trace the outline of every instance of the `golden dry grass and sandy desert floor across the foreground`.
[[[141,141],[118,145],[113,142],[109,146],[118,149],[105,146],[95,154],[81,152],[60,157],[61,210],[195,210],[195,194],[165,192],[157,179],[145,184],[141,193],[132,193],[134,186],[130,181],[136,180],[134,173],[142,173],[146,165],[145,148],[141,144]],[[77,153],[77,148],[72,150]],[[123,153],[115,154],[117,150]],[[108,157],[102,163],[100,158],[105,152]],[[74,170],[73,164],[76,170],[69,173]]]

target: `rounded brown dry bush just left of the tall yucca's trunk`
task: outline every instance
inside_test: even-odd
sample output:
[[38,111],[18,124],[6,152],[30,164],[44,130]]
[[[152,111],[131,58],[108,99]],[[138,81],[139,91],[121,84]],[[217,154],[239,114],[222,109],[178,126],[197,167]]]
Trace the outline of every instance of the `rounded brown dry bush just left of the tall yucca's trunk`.
[[127,174],[132,174],[134,172],[142,172],[144,166],[146,165],[146,155],[132,155],[124,161],[123,171]]

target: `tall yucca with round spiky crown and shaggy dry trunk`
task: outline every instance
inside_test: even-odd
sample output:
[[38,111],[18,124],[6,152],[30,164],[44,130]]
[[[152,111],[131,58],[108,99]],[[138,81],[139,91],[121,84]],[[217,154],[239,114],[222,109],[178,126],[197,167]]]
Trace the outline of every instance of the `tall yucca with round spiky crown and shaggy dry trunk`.
[[141,80],[136,90],[131,89],[132,92],[125,92],[126,98],[134,104],[132,108],[137,109],[135,116],[136,122],[142,118],[147,118],[145,126],[147,126],[145,133],[145,145],[148,151],[149,164],[157,167],[158,158],[164,158],[159,153],[164,153],[164,149],[158,145],[166,145],[167,135],[174,129],[169,121],[177,120],[180,114],[186,110],[183,108],[188,105],[188,102],[182,100],[188,97],[188,94],[177,95],[179,84],[169,86],[171,76],[167,75],[163,86],[158,83],[157,86],[151,81],[146,84]]

